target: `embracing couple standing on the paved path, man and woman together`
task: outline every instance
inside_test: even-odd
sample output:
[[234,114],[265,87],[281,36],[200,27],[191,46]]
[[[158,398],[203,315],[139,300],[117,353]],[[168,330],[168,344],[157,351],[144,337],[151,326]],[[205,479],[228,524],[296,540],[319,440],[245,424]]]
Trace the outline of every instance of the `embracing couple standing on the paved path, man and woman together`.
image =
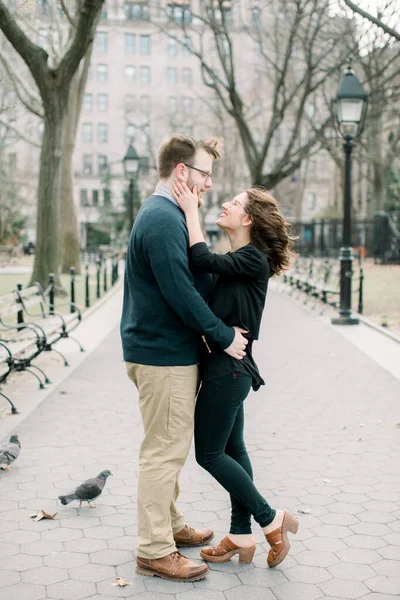
[[[222,204],[217,225],[231,251],[209,251],[199,208],[221,146],[220,138],[180,134],[163,142],[159,183],[137,215],[127,251],[121,337],[144,426],[136,571],[172,581],[203,579],[207,562],[235,554],[251,562],[252,516],[270,544],[269,567],[284,560],[288,531],[298,527],[257,490],[243,439],[244,401],[264,384],[252,345],[268,280],[289,266],[293,238],[276,200],[252,188]],[[231,499],[229,533],[214,546],[213,531],[190,527],[177,506],[193,432],[197,462]],[[177,550],[193,546],[203,546],[205,562]]]

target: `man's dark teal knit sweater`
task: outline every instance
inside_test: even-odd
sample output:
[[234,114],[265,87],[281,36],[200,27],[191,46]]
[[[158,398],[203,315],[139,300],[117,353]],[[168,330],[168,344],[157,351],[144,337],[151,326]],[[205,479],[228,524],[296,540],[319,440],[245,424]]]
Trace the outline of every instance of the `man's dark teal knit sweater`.
[[141,207],[129,239],[121,338],[124,360],[180,366],[199,362],[201,336],[227,348],[234,330],[208,308],[209,275],[189,266],[181,209],[164,196]]

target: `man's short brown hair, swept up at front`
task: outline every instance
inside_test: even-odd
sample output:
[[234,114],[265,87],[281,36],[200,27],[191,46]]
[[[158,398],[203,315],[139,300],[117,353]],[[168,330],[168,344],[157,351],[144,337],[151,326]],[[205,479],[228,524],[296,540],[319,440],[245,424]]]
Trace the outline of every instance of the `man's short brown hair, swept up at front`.
[[158,174],[160,179],[167,179],[176,165],[193,161],[196,150],[202,148],[218,160],[223,154],[223,138],[211,137],[206,140],[196,140],[184,133],[174,133],[163,140],[158,152]]

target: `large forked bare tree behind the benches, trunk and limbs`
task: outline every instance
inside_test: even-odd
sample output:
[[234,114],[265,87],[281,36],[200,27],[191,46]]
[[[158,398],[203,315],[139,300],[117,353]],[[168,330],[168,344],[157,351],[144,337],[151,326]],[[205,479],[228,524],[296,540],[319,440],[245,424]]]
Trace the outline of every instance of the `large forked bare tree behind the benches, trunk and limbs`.
[[[74,17],[60,0],[72,25],[67,49],[56,64],[30,37],[0,0],[0,29],[26,63],[38,88],[43,107],[44,133],[40,156],[36,254],[32,281],[46,285],[50,272],[59,282],[60,264],[60,163],[69,96],[74,75],[93,42],[103,0],[77,0]],[[26,28],[25,28],[26,29]]]

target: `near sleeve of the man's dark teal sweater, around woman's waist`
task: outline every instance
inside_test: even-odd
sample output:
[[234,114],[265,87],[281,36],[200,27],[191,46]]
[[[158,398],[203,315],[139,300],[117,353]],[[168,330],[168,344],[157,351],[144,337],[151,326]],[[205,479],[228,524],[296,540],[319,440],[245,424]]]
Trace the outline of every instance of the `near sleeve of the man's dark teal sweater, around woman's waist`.
[[146,235],[152,273],[165,301],[187,325],[218,344],[231,345],[234,329],[225,325],[194,287],[189,269],[188,235],[183,222],[163,216]]

